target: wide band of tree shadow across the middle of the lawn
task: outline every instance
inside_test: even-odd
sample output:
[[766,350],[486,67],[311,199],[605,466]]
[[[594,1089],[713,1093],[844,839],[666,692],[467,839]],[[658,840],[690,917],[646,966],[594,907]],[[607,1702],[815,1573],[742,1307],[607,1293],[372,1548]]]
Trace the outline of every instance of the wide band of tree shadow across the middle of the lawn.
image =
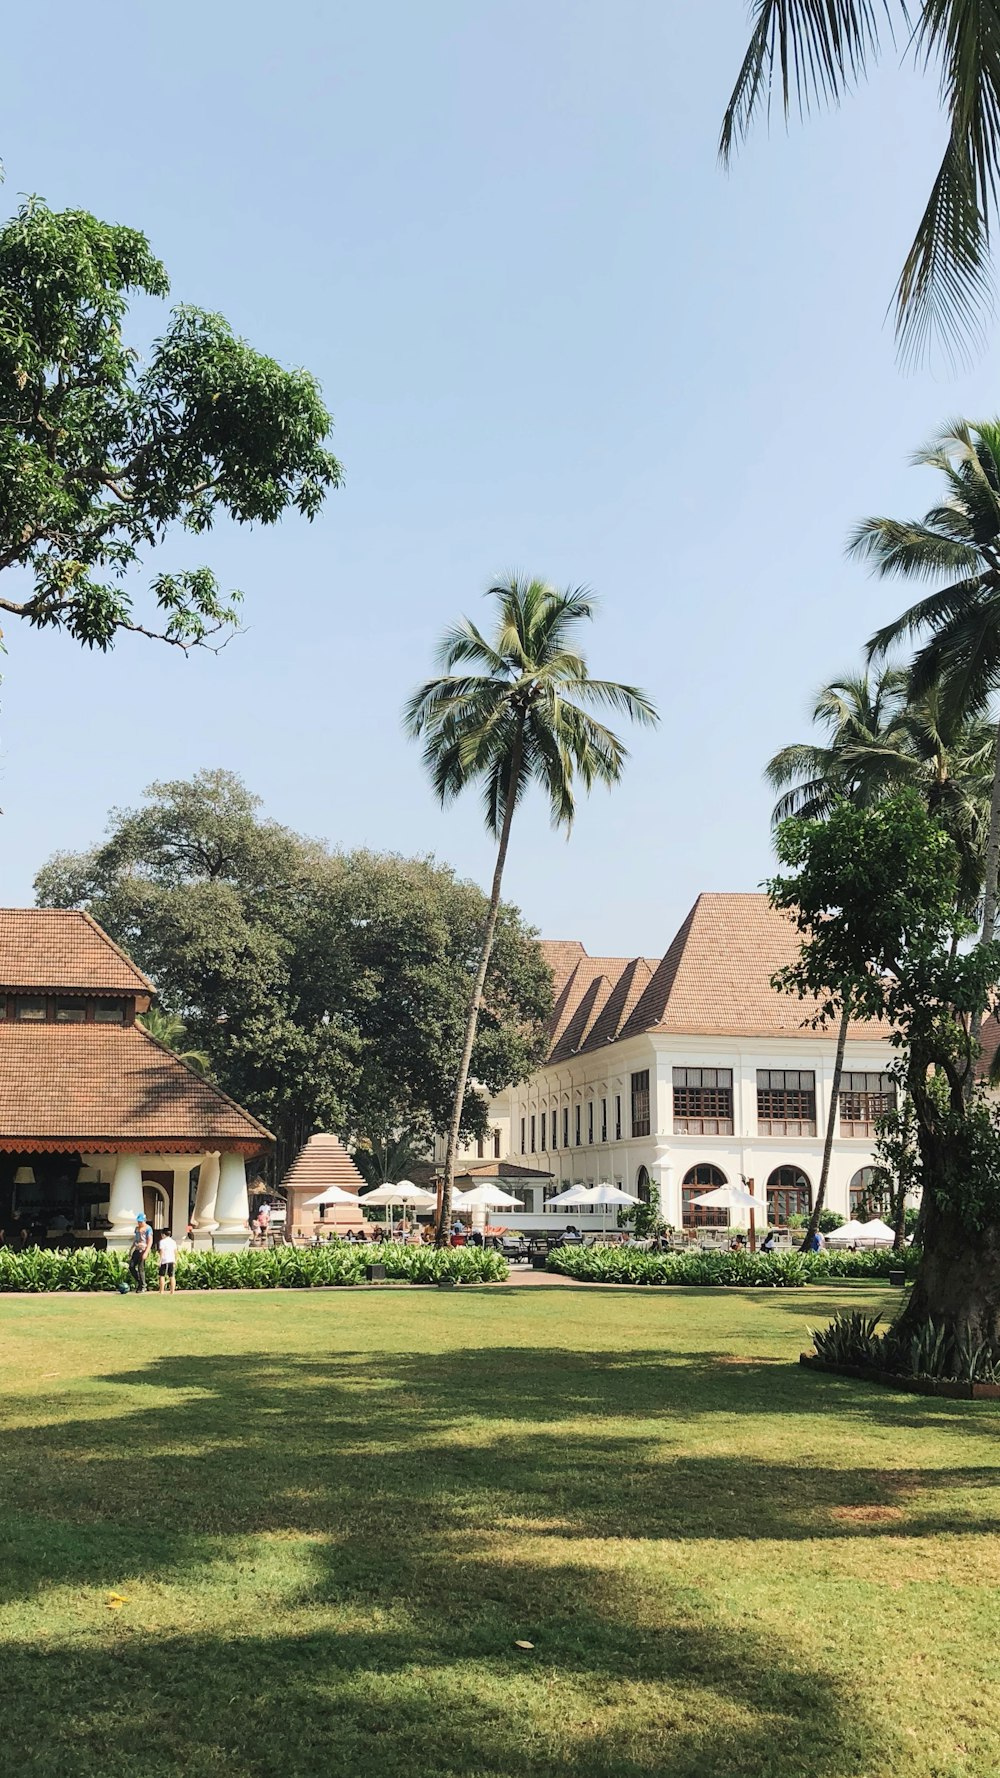
[[[208,1536],[267,1527],[375,1545],[495,1529],[722,1543],[1000,1531],[993,1462],[851,1463],[852,1422],[909,1433],[922,1398],[858,1401],[863,1385],[847,1385],[854,1399],[831,1403],[806,1371],[778,1380],[710,1355],[664,1364],[660,1353],[511,1348],[258,1360],[253,1371],[237,1357],[164,1357],[103,1382],[126,1390],[126,1412],[11,1440],[9,1511],[30,1502],[43,1520],[128,1524],[162,1502],[173,1524]],[[785,1453],[783,1424],[826,1408],[845,1428],[843,1465]],[[692,1422],[712,1415],[733,1421],[733,1449],[692,1453]],[[744,1417],[767,1419],[774,1454],[760,1454],[760,1438],[756,1451],[740,1446]],[[979,1497],[975,1511],[922,1504],[948,1492]],[[0,1517],[0,1547],[4,1536]]]

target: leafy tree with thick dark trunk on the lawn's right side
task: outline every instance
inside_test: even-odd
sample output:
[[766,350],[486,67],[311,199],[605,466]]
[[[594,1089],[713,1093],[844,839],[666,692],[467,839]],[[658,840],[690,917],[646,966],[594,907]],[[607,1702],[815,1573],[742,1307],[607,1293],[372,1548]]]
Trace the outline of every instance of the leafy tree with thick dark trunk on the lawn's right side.
[[[970,1092],[972,1012],[991,996],[1000,946],[952,944],[959,855],[915,791],[827,821],[786,821],[770,898],[802,933],[790,992],[820,1017],[851,997],[893,1028],[923,1189],[923,1253],[904,1323],[929,1316],[975,1342],[1000,1337],[1000,1115]],[[966,930],[972,923],[966,923]]]

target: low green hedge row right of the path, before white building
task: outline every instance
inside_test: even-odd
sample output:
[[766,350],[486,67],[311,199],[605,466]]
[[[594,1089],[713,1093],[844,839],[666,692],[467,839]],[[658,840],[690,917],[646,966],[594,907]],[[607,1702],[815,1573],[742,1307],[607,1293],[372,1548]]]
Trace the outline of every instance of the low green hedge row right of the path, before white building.
[[884,1278],[904,1264],[916,1269],[913,1248],[895,1253],[648,1253],[637,1246],[559,1246],[548,1269],[580,1284],[740,1284],[799,1289],[827,1278]]

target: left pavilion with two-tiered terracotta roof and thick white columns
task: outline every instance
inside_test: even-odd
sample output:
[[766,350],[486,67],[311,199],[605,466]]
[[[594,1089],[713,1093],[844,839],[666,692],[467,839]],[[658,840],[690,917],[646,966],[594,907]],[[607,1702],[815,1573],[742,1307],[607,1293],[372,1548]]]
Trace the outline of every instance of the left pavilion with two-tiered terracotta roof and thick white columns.
[[137,1024],[155,989],[89,914],[0,909],[0,1227],[125,1246],[142,1211],[247,1241],[270,1133]]

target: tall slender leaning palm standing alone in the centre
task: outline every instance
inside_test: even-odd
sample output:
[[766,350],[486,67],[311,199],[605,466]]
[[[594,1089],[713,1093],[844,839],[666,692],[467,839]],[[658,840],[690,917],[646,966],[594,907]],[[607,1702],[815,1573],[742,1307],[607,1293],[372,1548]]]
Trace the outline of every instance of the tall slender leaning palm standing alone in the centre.
[[[614,679],[591,679],[584,654],[573,645],[575,629],[594,615],[587,589],[557,592],[541,580],[512,574],[486,597],[496,606],[493,638],[468,617],[448,629],[440,647],[445,676],[420,686],[406,708],[409,733],[423,736],[423,761],[440,800],[448,804],[468,784],[480,782],[486,827],[496,839],[445,1154],[440,1243],[450,1220],[459,1127],[514,809],[528,786],[537,784],[548,797],[552,825],[569,830],[577,777],[584,789],[619,782],[626,749],[585,706],[621,711],[633,722],[658,720],[644,692]],[[477,670],[454,674],[454,667]]]

